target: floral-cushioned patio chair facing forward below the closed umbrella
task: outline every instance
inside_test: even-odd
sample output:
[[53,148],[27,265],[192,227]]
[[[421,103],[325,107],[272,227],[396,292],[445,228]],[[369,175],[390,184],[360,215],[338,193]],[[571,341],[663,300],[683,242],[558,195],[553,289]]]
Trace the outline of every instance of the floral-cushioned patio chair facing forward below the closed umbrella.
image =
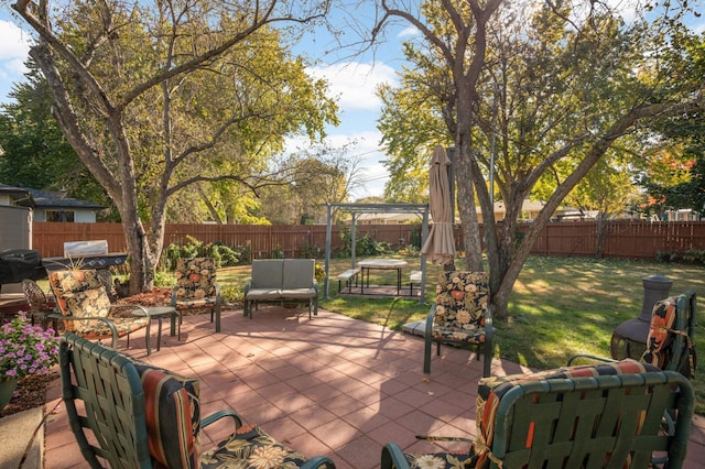
[[492,315],[486,272],[441,272],[436,302],[426,317],[423,372],[431,372],[431,349],[436,342],[475,348],[477,359],[485,356],[482,375],[489,377],[492,363]]

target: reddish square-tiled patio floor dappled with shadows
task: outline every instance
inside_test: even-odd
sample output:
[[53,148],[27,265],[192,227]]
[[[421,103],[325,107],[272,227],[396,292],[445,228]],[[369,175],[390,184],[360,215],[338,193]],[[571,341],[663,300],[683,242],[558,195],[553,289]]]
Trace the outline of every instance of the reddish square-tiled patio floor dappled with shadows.
[[[120,351],[197,377],[202,415],[232,408],[307,456],[329,456],[338,468],[379,467],[387,441],[432,451],[467,444],[438,446],[415,435],[475,435],[481,361],[467,350],[443,347],[424,375],[420,337],[325,310],[308,320],[307,310],[281,307],[262,307],[253,319],[224,312],[220,334],[209,315],[186,316],[181,341],[167,329],[150,357],[143,332],[133,335],[129,350],[122,340]],[[496,375],[522,371],[529,370],[507,360],[492,366]],[[47,410],[59,403],[59,392],[55,381]],[[228,424],[204,429],[203,448],[230,434]],[[691,435],[685,467],[705,467],[705,418],[694,418]],[[44,468],[86,466],[58,405],[45,425]]]

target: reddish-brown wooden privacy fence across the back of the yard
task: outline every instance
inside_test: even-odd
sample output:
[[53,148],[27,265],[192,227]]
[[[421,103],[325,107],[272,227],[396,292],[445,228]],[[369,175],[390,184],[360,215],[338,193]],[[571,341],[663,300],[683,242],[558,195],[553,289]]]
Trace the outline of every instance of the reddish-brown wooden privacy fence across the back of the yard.
[[[529,223],[519,226],[525,233]],[[340,250],[341,230],[333,227],[332,248]],[[409,244],[417,238],[419,225],[358,225],[357,239],[366,234],[386,241],[393,248]],[[314,247],[324,255],[325,225],[167,225],[164,246],[188,244],[188,237],[204,243],[223,242],[231,247],[249,247],[253,258],[269,258],[282,252],[286,258],[301,257],[302,248]],[[43,258],[63,257],[65,241],[107,240],[110,252],[124,252],[127,246],[120,223],[32,223],[32,248]],[[349,238],[348,238],[349,239]],[[456,247],[463,249],[459,227],[455,229]],[[545,255],[594,257],[597,242],[595,222],[555,222],[546,226],[534,243],[532,252]],[[603,255],[653,260],[657,252],[683,253],[705,250],[705,221],[611,221],[605,229]]]

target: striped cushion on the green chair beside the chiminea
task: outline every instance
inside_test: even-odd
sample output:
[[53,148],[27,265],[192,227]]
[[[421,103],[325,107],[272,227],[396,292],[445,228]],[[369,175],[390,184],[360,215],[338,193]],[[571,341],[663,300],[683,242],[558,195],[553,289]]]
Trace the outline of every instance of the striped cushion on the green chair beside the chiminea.
[[673,334],[675,334],[673,325],[677,317],[677,304],[679,297],[672,296],[658,301],[653,305],[647,350],[643,352],[641,361],[660,369],[663,369],[664,364],[670,361],[673,350],[669,346],[673,342]]

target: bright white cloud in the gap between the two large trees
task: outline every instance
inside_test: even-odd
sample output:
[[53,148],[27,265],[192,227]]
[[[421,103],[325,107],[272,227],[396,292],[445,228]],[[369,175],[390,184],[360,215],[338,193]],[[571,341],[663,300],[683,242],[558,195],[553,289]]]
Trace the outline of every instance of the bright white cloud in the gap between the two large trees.
[[375,95],[383,83],[394,83],[394,69],[388,65],[348,62],[308,68],[316,78],[328,81],[330,96],[338,100],[340,109],[380,109],[382,102]]

